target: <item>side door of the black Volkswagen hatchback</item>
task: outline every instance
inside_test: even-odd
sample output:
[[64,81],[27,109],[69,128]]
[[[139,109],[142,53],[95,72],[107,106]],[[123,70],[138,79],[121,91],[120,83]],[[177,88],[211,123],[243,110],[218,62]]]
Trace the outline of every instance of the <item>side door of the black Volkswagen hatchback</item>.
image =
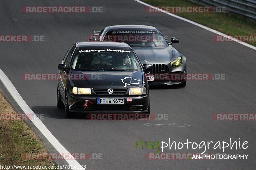
[[73,44],[68,49],[68,52],[66,53],[65,57],[62,60],[62,64],[66,64],[67,69],[64,70],[64,71],[62,71],[62,70],[59,71],[60,79],[58,80],[58,84],[59,84],[59,88],[60,88],[60,94],[61,94],[63,99],[64,99],[64,96],[65,96],[65,86],[66,86],[66,82],[67,82],[67,80],[63,79],[67,76],[63,76],[63,75],[68,74],[69,62],[70,62],[70,58],[71,58],[74,50],[75,50],[75,46]]

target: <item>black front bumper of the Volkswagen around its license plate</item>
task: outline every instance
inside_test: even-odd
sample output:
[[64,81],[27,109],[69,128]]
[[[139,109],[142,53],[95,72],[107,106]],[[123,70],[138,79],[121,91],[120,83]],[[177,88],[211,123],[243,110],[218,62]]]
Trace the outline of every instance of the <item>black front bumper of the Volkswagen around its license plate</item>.
[[[97,104],[97,98],[124,98],[124,104]],[[85,107],[85,100],[88,104]],[[149,95],[143,96],[91,96],[68,94],[70,112],[82,113],[146,113]]]

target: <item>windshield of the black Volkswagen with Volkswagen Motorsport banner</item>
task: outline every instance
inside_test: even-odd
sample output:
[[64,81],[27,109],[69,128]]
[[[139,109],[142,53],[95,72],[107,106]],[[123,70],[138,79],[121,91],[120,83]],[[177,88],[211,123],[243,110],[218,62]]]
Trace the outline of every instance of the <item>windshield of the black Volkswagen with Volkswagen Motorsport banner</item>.
[[78,49],[72,70],[88,71],[138,71],[140,63],[130,49]]

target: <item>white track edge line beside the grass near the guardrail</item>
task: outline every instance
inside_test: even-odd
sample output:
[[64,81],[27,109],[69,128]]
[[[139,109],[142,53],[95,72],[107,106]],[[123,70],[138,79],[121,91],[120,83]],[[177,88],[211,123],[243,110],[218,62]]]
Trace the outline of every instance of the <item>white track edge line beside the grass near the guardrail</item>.
[[[149,5],[149,4],[144,3],[144,2],[142,2],[142,1],[140,1],[140,0],[134,0],[134,1],[136,1],[136,2],[138,2],[138,3],[140,3],[140,4],[143,4],[143,5],[149,6],[149,7],[150,7],[150,6],[151,6],[151,7],[154,7],[154,9],[156,9],[157,11],[161,11],[161,12],[167,14],[167,15],[170,15],[170,16],[172,16],[172,17],[181,19],[181,20],[186,21],[186,22],[188,22],[188,23],[190,23],[190,24],[199,26],[199,27],[201,27],[201,28],[203,28],[203,29],[205,29],[205,30],[208,30],[208,31],[213,32],[213,33],[216,33],[216,34],[218,34],[218,35],[225,36],[225,37],[227,37],[227,38],[230,39],[230,40],[234,40],[234,38],[231,38],[231,37],[229,37],[228,35],[226,35],[226,34],[224,34],[224,33],[221,33],[221,32],[219,32],[219,31],[216,31],[216,30],[213,30],[213,29],[211,29],[211,28],[208,28],[207,26],[198,24],[198,23],[196,23],[196,22],[194,22],[194,21],[191,21],[191,20],[189,20],[189,19],[186,19],[186,18],[179,17],[179,16],[174,15],[174,14],[172,14],[172,13],[170,13],[170,12],[166,12],[166,11],[164,11],[164,10],[161,10],[160,8],[156,8],[155,6]],[[242,41],[235,41],[235,42],[237,42],[237,43],[239,43],[239,44],[242,44],[242,45],[244,45],[244,46],[247,46],[247,47],[249,47],[249,48],[252,48],[253,50],[256,50],[256,47],[255,47],[255,46],[252,46],[252,45],[247,44],[247,43],[245,43],[245,42],[242,42]]]

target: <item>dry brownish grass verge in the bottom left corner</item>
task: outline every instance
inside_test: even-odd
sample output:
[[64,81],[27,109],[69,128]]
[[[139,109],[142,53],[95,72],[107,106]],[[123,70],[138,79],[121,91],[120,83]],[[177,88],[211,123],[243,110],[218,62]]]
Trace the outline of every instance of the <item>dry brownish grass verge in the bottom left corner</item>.
[[11,105],[0,93],[0,165],[54,166],[53,161],[49,159],[22,159],[23,153],[36,154],[47,151],[37,135],[22,120],[3,120],[4,114],[11,113],[15,114]]

